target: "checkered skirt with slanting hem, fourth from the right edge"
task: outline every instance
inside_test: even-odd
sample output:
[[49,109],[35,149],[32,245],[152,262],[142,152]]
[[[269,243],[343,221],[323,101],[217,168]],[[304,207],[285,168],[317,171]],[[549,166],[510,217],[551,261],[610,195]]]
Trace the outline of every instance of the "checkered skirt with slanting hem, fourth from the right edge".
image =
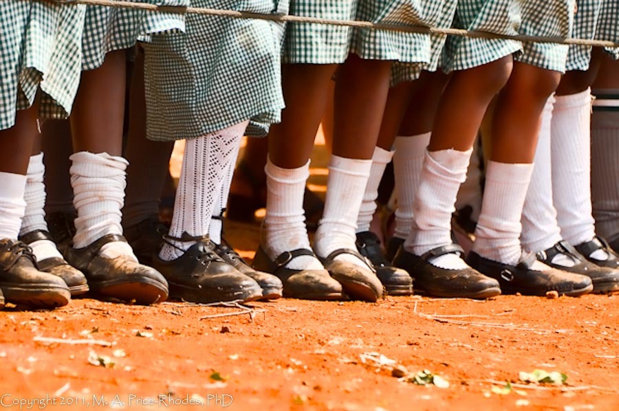
[[[453,26],[516,35],[521,23],[523,1],[530,0],[459,0]],[[521,49],[522,45],[518,41],[448,36],[442,67],[446,72],[466,70],[499,60]]]

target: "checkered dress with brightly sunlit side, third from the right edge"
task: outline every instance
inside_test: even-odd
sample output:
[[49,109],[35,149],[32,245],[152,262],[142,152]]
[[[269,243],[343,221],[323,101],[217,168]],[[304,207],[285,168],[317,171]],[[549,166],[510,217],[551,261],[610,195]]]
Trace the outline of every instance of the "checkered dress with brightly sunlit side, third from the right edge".
[[[525,0],[520,34],[568,38],[572,36],[576,0]],[[542,69],[565,72],[569,46],[556,43],[525,43],[515,60]]]

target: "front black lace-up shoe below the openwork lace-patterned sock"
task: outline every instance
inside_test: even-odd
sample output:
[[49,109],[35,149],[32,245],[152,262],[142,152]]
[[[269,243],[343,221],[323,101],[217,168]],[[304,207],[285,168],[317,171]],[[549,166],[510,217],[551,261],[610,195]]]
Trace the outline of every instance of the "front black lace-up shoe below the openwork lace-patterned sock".
[[[169,237],[166,237],[169,238]],[[165,261],[156,256],[153,267],[170,285],[170,295],[190,302],[254,301],[262,297],[257,282],[242,274],[215,254],[214,244],[205,237],[173,238],[197,241],[179,258]],[[172,239],[172,238],[171,238]]]

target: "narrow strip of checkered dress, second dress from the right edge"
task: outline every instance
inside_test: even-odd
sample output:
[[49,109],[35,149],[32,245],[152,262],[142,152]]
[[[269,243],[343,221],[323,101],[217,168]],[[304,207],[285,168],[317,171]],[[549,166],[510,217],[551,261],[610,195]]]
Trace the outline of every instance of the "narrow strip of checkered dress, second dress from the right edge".
[[[578,12],[574,16],[574,38],[592,39],[596,36],[596,26],[600,16],[603,0],[577,0]],[[586,45],[570,45],[567,53],[567,67],[565,71],[589,69],[591,61],[591,47]]]

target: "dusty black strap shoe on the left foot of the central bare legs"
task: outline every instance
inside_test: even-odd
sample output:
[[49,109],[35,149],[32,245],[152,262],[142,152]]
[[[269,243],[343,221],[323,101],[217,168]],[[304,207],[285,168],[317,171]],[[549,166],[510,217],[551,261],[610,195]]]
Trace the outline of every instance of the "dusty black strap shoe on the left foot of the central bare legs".
[[343,289],[339,282],[329,276],[326,269],[292,269],[286,265],[300,256],[314,256],[311,249],[294,249],[283,252],[271,260],[262,245],[254,255],[252,267],[273,274],[283,283],[283,296],[301,300],[343,300]]

